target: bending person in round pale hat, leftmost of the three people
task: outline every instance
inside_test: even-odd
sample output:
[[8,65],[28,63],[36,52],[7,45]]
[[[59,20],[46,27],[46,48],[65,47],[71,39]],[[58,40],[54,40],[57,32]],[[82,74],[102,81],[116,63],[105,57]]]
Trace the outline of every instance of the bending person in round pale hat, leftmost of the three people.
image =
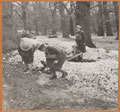
[[28,71],[33,68],[34,52],[39,48],[40,45],[41,45],[40,42],[38,42],[35,39],[30,39],[30,38],[21,39],[18,47],[18,52],[22,57],[22,61],[26,65],[25,71]]

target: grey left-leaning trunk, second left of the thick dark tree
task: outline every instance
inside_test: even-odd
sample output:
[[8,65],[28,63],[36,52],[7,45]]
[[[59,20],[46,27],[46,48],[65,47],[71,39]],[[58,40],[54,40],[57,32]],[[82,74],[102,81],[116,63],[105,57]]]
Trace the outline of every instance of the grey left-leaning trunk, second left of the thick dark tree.
[[59,13],[60,13],[60,20],[61,20],[61,29],[64,38],[69,37],[69,21],[68,17],[65,14],[64,6],[61,2],[59,2]]

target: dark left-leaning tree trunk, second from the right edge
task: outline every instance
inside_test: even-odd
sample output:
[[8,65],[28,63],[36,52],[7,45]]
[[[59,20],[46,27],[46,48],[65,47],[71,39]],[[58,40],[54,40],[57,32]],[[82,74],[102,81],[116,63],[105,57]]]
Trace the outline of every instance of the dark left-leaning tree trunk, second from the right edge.
[[113,36],[111,24],[110,24],[109,12],[107,10],[107,2],[103,2],[103,10],[104,10],[104,16],[105,16],[106,35]]

